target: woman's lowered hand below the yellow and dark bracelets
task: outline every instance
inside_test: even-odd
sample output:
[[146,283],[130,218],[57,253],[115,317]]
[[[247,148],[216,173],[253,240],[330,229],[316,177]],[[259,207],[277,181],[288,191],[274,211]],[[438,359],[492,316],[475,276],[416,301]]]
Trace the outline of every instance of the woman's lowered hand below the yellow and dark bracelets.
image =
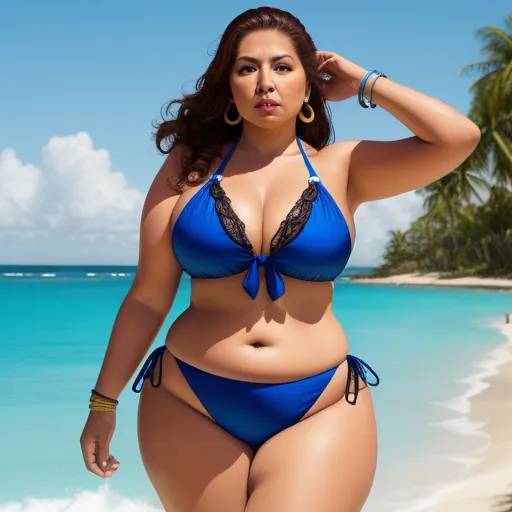
[[80,436],[87,469],[102,478],[113,476],[119,467],[119,462],[109,451],[115,427],[115,412],[91,411]]

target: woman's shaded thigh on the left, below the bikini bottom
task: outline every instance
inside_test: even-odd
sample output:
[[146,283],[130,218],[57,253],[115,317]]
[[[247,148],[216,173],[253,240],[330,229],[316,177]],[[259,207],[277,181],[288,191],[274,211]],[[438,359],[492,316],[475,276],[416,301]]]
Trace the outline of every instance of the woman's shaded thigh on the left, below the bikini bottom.
[[166,512],[245,509],[251,450],[163,387],[145,384],[138,436]]

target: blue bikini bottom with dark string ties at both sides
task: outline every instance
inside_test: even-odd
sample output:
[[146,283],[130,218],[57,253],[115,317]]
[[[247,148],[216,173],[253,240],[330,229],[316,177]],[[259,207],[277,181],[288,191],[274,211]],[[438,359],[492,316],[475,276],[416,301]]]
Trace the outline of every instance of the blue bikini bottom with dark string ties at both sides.
[[[133,382],[132,390],[135,393],[142,391],[146,379],[154,388],[161,384],[165,350],[168,350],[165,345],[158,347],[146,359]],[[213,420],[254,451],[278,432],[298,423],[338,369],[336,366],[311,377],[269,384],[220,377],[173,357],[188,385]],[[347,355],[346,361],[348,378],[345,399],[355,405],[360,389],[358,377],[370,386],[377,386],[379,377],[368,364],[355,356]],[[159,371],[155,372],[157,365]],[[368,381],[368,372],[374,377],[373,382]]]

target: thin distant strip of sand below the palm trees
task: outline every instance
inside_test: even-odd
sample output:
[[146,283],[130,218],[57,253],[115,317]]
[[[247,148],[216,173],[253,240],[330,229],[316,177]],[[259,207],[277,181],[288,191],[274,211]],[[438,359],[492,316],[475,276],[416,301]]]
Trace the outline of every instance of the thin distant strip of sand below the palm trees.
[[437,272],[429,274],[400,274],[389,277],[351,277],[350,281],[364,284],[512,289],[512,279],[495,279],[491,277],[457,277],[455,279],[442,279]]

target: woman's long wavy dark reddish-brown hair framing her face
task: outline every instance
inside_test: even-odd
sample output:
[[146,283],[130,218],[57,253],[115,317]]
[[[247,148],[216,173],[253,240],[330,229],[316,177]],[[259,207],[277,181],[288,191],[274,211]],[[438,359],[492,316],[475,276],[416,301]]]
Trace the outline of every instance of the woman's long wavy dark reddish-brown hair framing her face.
[[[162,115],[164,120],[153,125],[157,129],[154,133],[156,146],[161,153],[170,153],[177,143],[185,145],[181,174],[172,183],[179,190],[184,184],[197,185],[204,181],[212,163],[221,157],[223,145],[242,132],[242,123],[231,126],[224,121],[224,110],[231,97],[229,76],[240,41],[254,30],[279,30],[292,40],[311,84],[309,104],[315,111],[315,119],[311,123],[297,119],[297,135],[317,150],[329,143],[331,114],[320,92],[321,82],[326,77],[317,70],[316,46],[311,36],[304,25],[287,11],[273,7],[249,9],[227,26],[213,60],[196,82],[196,91],[168,102]],[[171,114],[176,104],[179,109]],[[304,114],[307,117],[307,111]],[[165,116],[169,115],[171,119],[166,120]]]

